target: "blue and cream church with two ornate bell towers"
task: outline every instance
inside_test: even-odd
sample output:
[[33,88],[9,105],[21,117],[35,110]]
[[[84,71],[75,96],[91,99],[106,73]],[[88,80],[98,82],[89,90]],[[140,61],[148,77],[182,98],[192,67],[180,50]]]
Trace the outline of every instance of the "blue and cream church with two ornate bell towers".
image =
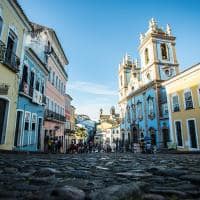
[[132,146],[141,140],[157,147],[167,147],[169,119],[162,82],[179,72],[175,37],[167,25],[163,30],[154,19],[140,35],[141,63],[130,55],[119,64],[119,106],[122,143]]

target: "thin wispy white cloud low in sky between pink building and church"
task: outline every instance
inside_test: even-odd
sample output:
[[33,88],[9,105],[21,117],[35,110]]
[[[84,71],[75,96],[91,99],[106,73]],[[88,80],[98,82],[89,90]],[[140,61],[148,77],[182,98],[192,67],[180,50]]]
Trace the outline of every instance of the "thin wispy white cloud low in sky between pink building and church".
[[68,89],[81,91],[95,95],[117,96],[116,90],[110,89],[105,85],[96,84],[92,82],[76,81],[68,85]]

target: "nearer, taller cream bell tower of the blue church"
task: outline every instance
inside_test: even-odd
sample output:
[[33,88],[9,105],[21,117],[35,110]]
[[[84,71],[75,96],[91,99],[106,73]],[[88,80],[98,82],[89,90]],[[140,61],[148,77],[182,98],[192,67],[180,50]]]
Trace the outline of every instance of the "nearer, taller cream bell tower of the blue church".
[[144,83],[167,80],[179,73],[175,40],[168,24],[166,30],[163,30],[153,18],[149,21],[148,31],[140,34],[139,45]]

